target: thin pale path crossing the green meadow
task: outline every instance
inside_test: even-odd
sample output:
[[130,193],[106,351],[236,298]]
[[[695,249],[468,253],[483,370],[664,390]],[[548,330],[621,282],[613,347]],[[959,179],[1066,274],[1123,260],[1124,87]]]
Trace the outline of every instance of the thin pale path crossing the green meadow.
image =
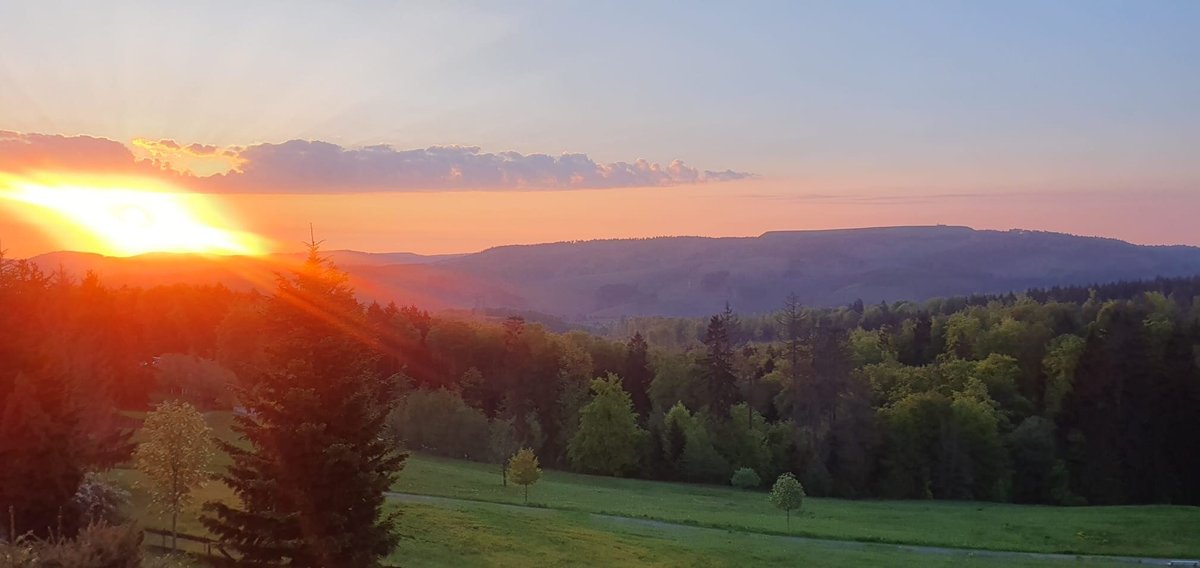
[[[402,501],[406,503],[425,503],[433,506],[456,506],[456,504],[486,504],[493,506],[502,509],[521,512],[524,514],[538,514],[538,513],[551,513],[557,509],[547,509],[541,507],[526,507],[511,503],[494,503],[491,501],[479,501],[479,500],[463,500],[454,497],[434,497],[431,495],[416,495],[416,494],[401,494],[401,492],[388,492],[388,497]],[[665,531],[672,531],[678,533],[694,533],[697,537],[712,533],[724,533],[727,532],[725,528],[708,528],[697,527],[691,525],[682,525],[678,522],[668,521],[656,521],[652,519],[637,519],[630,516],[619,515],[605,515],[599,513],[589,513],[590,518],[601,522],[608,522],[613,525],[636,525],[652,528],[659,528]],[[834,549],[894,549],[904,552],[925,554],[925,555],[941,555],[941,556],[964,556],[964,557],[983,557],[983,558],[1008,558],[1008,560],[1032,560],[1032,561],[1052,561],[1052,562],[1076,562],[1080,560],[1094,561],[1094,562],[1109,562],[1114,564],[1140,564],[1140,566],[1168,566],[1168,567],[1194,567],[1200,568],[1200,561],[1195,560],[1180,560],[1180,558],[1141,558],[1134,556],[1090,556],[1090,555],[1064,555],[1064,554],[1048,554],[1048,552],[1012,552],[1002,550],[979,550],[979,549],[953,549],[944,546],[920,546],[913,544],[880,544],[880,543],[863,543],[858,540],[838,540],[828,538],[811,538],[811,537],[788,537],[779,534],[764,534],[752,531],[744,531],[748,534],[758,534],[768,538],[780,538],[796,543],[815,544],[821,546],[828,546]]]

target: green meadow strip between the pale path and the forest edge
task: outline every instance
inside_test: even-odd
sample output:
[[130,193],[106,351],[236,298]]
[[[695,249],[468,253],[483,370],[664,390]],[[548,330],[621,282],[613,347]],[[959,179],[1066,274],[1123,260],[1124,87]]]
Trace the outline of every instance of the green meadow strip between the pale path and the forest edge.
[[[409,459],[397,491],[521,503],[497,466]],[[530,504],[772,534],[935,546],[1128,556],[1200,556],[1200,508],[1057,508],[996,503],[810,498],[784,525],[766,494],[547,471]]]

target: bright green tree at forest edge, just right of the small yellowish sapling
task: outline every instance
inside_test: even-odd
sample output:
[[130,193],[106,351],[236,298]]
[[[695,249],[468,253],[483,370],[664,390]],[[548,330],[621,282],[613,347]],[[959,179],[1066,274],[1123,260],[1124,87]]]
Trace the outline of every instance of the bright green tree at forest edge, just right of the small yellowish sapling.
[[637,465],[644,432],[637,425],[629,393],[620,377],[592,381],[592,402],[580,412],[580,429],[568,447],[575,468],[589,473],[622,476]]

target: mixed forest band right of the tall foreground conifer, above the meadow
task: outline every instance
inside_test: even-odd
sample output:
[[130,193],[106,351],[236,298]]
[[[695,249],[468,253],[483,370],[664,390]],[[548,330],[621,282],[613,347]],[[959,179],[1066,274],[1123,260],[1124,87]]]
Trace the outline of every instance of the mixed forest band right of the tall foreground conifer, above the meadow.
[[554,467],[700,483],[794,472],[848,498],[1195,504],[1198,281],[788,301],[641,319],[625,341],[374,313],[422,361],[391,421],[414,449],[500,462],[526,446]]

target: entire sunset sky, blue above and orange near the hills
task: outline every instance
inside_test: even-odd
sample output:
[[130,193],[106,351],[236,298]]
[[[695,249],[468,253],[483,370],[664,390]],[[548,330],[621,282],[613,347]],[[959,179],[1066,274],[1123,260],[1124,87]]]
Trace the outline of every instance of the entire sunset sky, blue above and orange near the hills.
[[292,250],[310,223],[422,253],[938,223],[1200,245],[1195,1],[16,0],[0,22],[10,256]]

